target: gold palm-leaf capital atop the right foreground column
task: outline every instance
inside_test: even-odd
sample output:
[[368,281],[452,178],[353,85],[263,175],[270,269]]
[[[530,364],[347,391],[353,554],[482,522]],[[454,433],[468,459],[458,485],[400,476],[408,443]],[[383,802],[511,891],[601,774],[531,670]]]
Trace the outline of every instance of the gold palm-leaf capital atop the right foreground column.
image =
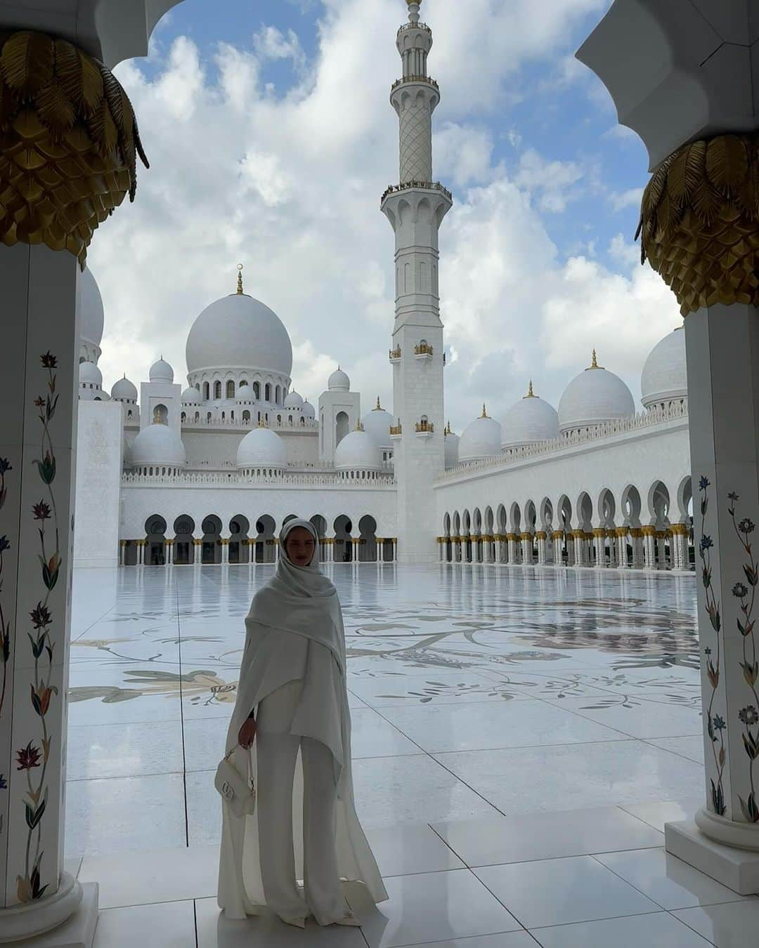
[[640,206],[640,259],[687,316],[715,303],[759,305],[759,133],[683,145]]

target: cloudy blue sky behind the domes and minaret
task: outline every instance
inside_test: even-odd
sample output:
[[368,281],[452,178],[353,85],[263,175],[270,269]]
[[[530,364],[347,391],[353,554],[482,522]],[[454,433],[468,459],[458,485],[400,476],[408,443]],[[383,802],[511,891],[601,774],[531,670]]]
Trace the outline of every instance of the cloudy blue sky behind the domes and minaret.
[[[639,138],[574,58],[610,0],[423,0],[440,85],[434,177],[446,417],[455,431],[526,394],[558,406],[590,365],[639,406],[643,362],[681,324],[634,243],[648,173]],[[361,13],[359,13],[361,10]],[[403,0],[183,0],[146,58],[116,68],[149,170],[96,233],[103,385],[139,385],[158,356],[186,385],[185,340],[209,303],[245,289],[283,320],[292,388],[316,404],[340,363],[392,410],[392,228]]]

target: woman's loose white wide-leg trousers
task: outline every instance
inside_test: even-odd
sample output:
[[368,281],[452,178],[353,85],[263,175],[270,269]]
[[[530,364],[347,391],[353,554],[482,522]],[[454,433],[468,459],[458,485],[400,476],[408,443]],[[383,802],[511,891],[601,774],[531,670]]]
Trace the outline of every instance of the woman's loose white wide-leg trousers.
[[[261,879],[268,907],[283,919],[312,913],[320,925],[342,919],[342,891],[335,848],[337,787],[332,752],[320,740],[289,734],[303,682],[287,682],[258,705],[256,811]],[[298,748],[303,765],[304,896],[295,879],[292,780]]]

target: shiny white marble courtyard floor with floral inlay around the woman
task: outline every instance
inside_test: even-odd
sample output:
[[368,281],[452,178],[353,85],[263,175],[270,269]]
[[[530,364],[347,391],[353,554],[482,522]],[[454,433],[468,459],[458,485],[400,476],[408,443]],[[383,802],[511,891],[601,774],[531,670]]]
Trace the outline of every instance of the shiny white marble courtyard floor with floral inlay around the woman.
[[66,853],[96,948],[755,948],[759,899],[663,850],[702,803],[692,574],[373,564],[341,593],[361,928],[219,918],[223,753],[270,566],[74,574]]

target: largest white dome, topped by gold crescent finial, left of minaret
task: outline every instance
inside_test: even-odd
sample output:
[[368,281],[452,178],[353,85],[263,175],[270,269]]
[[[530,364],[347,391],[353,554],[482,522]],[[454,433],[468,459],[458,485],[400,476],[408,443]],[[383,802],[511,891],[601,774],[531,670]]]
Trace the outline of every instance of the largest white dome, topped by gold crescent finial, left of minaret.
[[277,314],[247,293],[232,293],[206,306],[187,337],[187,371],[292,370],[292,345]]

